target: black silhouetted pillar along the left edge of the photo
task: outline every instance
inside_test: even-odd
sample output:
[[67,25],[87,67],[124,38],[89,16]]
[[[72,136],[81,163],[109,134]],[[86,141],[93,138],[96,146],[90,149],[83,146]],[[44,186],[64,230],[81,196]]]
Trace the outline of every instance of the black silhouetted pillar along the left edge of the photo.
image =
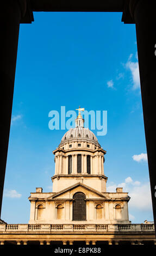
[[[26,17],[27,16],[27,17]],[[24,17],[26,19],[24,20]],[[3,1],[1,5],[1,165],[0,165],[0,214],[4,187],[5,167],[7,162],[8,142],[10,132],[11,111],[13,105],[14,80],[16,70],[18,33],[20,23],[31,23],[33,13],[28,2]]]

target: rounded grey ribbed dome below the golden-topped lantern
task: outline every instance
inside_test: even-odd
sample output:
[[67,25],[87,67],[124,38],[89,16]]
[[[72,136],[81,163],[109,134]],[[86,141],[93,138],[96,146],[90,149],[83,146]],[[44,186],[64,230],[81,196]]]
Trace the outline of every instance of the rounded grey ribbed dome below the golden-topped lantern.
[[63,138],[61,139],[61,143],[59,147],[65,143],[73,141],[85,141],[88,143],[92,143],[97,145],[97,147],[101,148],[101,145],[99,145],[97,137],[93,132],[89,130],[89,128],[84,128],[82,126],[77,126],[75,128],[71,128],[68,130]]

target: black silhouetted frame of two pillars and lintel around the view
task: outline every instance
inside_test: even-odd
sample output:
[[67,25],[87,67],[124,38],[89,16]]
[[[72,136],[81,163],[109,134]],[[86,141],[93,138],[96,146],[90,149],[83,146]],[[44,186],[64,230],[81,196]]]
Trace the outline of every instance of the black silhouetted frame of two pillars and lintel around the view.
[[7,163],[11,111],[20,23],[32,23],[33,11],[116,11],[122,21],[135,23],[145,137],[156,230],[156,21],[154,0],[105,0],[96,2],[52,0],[8,0],[1,3],[1,166],[0,211]]

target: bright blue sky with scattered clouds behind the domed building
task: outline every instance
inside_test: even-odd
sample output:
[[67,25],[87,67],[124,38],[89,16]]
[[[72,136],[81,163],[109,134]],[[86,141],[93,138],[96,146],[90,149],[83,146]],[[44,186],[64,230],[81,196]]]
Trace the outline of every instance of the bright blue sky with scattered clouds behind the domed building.
[[[2,219],[28,223],[30,192],[52,191],[53,150],[66,130],[49,130],[48,113],[108,111],[109,192],[129,192],[129,219],[153,221],[134,25],[121,13],[34,13],[21,24]],[[96,130],[93,130],[97,134]]]

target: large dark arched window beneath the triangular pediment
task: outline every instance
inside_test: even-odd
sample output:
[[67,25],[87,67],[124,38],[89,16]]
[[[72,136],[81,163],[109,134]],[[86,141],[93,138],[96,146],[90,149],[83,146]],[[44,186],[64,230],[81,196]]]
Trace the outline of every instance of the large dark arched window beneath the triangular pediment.
[[85,194],[77,192],[73,196],[73,221],[85,221],[86,220],[86,202]]

